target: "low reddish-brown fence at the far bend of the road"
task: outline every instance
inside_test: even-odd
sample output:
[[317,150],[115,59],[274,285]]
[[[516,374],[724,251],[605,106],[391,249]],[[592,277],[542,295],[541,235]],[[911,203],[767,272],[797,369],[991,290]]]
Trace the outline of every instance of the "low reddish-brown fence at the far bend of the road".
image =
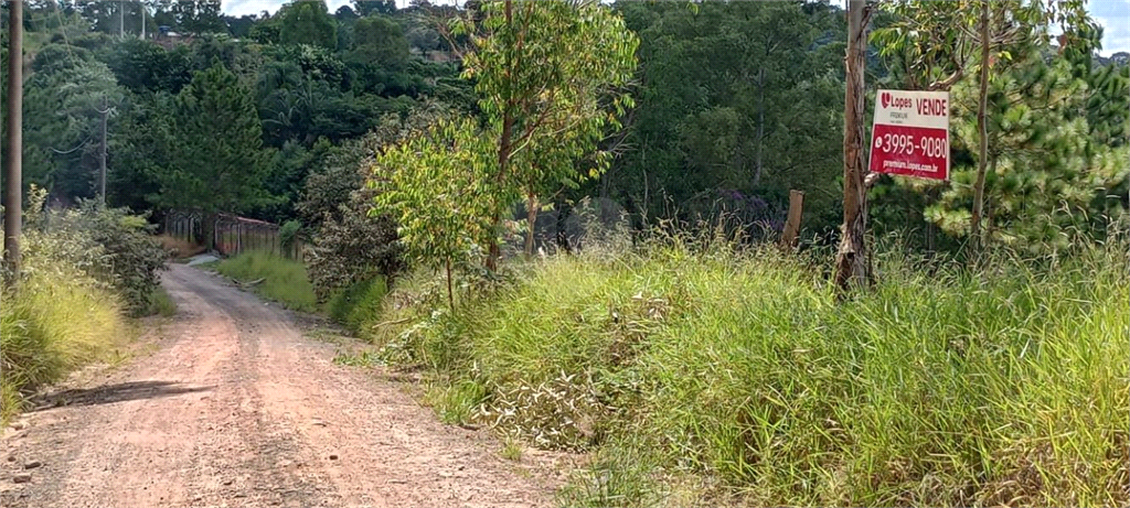
[[[209,220],[211,228],[206,228]],[[298,235],[285,238],[277,224],[226,213],[205,218],[199,212],[174,211],[165,218],[165,234],[197,245],[205,244],[210,234],[212,248],[225,256],[260,251],[302,260],[305,248]]]

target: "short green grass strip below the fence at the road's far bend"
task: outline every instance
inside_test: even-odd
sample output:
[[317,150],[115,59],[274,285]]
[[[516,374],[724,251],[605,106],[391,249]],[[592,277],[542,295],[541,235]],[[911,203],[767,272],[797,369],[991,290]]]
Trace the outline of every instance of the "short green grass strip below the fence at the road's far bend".
[[310,283],[306,266],[301,261],[251,251],[221,261],[216,270],[241,282],[257,282],[255,291],[287,308],[316,310],[314,287]]

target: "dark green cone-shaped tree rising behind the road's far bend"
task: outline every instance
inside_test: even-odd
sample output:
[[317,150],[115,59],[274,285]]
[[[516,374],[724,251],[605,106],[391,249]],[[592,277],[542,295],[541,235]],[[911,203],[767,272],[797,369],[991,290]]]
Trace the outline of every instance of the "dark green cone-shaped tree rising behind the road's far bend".
[[159,204],[215,214],[263,201],[266,152],[251,90],[215,61],[181,90],[175,107]]

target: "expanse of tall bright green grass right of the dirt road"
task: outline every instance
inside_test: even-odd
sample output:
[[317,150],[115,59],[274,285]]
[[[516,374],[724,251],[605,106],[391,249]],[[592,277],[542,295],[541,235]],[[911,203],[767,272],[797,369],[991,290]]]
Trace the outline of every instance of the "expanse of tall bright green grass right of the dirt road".
[[893,251],[841,303],[768,249],[563,256],[454,315],[406,284],[376,340],[445,413],[594,452],[566,505],[1125,506],[1127,261]]

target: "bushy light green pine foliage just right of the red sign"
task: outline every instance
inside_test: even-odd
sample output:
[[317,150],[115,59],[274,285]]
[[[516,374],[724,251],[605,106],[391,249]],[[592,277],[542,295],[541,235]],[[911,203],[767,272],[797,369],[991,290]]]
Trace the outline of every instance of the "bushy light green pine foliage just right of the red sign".
[[[989,97],[989,238],[1017,248],[1063,251],[1104,234],[1090,229],[1089,216],[1124,213],[1116,209],[1120,200],[1103,198],[1130,176],[1130,150],[1090,138],[1087,117],[1079,114],[1087,103],[1086,82],[1072,78],[1062,60],[1045,64],[1035,58],[992,80]],[[955,87],[951,103],[953,146],[975,152],[975,84]],[[976,170],[958,164],[951,174],[955,184],[925,214],[947,233],[964,236],[970,227],[968,184]]]

